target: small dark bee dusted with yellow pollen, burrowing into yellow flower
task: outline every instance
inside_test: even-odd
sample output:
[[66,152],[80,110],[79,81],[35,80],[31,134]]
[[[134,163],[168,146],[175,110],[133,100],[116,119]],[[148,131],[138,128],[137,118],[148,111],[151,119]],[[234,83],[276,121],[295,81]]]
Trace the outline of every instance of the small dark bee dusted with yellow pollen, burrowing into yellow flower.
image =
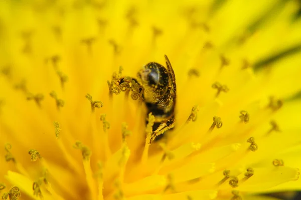
[[[137,79],[131,77],[114,77],[115,84],[108,82],[110,91],[119,93],[129,89],[133,99],[141,98],[146,106],[147,116],[155,117],[151,141],[158,140],[175,126],[176,78],[172,65],[165,55],[166,67],[150,62],[137,73]],[[111,86],[111,87],[110,87]],[[114,92],[115,91],[115,92]],[[146,123],[148,119],[146,117]],[[158,137],[159,136],[159,137]]]

